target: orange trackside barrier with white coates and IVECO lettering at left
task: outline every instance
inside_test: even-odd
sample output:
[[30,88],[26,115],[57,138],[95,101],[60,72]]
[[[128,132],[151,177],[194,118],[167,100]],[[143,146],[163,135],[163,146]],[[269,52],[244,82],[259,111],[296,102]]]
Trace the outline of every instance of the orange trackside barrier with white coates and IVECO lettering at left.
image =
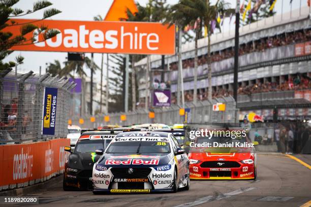
[[70,140],[0,146],[0,190],[33,185],[64,172]]

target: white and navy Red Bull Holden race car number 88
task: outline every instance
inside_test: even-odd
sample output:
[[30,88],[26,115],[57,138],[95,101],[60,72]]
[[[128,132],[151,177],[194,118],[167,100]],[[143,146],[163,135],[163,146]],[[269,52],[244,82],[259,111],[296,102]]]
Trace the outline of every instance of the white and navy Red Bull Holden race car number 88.
[[123,132],[94,165],[92,181],[94,194],[189,190],[189,159],[172,133]]

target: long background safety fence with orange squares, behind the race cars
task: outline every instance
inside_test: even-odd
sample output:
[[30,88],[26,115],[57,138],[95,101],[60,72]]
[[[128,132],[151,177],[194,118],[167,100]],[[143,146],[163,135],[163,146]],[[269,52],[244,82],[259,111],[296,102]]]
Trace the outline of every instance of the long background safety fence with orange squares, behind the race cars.
[[[213,111],[212,107],[216,103],[225,103],[225,111]],[[96,116],[72,117],[74,125],[81,128],[97,128],[105,125],[133,125],[141,123],[164,123],[173,125],[184,122],[236,122],[237,114],[236,103],[232,96],[215,98],[211,101],[186,102],[184,114],[180,114],[182,107],[171,105],[171,107],[153,108],[150,111],[137,109],[128,113],[99,114]],[[149,117],[149,112],[154,112],[154,118]],[[122,117],[121,117],[122,116]],[[108,118],[107,118],[108,117]],[[122,120],[121,120],[122,119]]]

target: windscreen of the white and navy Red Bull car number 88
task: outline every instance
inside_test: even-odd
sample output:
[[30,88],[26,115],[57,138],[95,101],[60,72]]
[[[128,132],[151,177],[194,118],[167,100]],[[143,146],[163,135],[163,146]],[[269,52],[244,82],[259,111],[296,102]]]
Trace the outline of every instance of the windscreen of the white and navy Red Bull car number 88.
[[170,153],[170,144],[167,141],[129,141],[113,142],[106,153]]

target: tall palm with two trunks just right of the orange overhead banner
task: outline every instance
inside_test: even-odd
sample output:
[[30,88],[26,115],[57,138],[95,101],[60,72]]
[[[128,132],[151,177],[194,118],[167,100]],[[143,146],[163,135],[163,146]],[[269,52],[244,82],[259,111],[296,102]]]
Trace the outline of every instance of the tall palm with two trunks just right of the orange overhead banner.
[[[193,23],[198,18],[207,28],[207,65],[208,65],[208,99],[212,98],[211,89],[211,58],[210,58],[210,36],[215,28],[220,28],[219,22],[215,21],[216,16],[219,14],[223,17],[234,14],[234,9],[229,8],[229,3],[225,3],[224,0],[217,0],[215,5],[211,5],[209,0],[179,0],[179,3],[174,5],[171,9],[171,15],[168,19],[171,23],[177,23],[177,25],[186,26],[189,23]],[[211,22],[214,22],[215,27],[211,26]],[[181,28],[183,28],[181,27]],[[202,28],[202,27],[201,27]],[[201,29],[200,28],[200,29]],[[196,30],[196,58],[195,58],[195,80],[197,78],[197,40],[199,31]],[[195,85],[196,93],[196,85]],[[195,97],[196,98],[196,97]]]

